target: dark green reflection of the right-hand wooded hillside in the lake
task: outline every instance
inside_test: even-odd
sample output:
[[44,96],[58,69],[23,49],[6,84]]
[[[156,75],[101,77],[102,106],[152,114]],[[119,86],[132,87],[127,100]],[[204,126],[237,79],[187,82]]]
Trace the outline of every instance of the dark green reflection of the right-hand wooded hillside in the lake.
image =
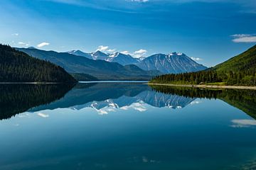
[[154,86],[151,87],[164,94],[176,94],[190,98],[219,98],[256,118],[256,91],[241,89],[199,89],[188,87]]

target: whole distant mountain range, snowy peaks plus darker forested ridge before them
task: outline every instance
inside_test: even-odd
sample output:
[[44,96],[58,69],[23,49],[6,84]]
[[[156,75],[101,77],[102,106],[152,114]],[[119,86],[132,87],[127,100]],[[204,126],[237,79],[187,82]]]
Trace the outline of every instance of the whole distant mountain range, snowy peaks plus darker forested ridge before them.
[[90,74],[100,80],[149,80],[159,74],[196,72],[206,69],[183,53],[134,58],[122,52],[55,52],[35,47],[16,48],[32,57],[48,60],[73,74]]

